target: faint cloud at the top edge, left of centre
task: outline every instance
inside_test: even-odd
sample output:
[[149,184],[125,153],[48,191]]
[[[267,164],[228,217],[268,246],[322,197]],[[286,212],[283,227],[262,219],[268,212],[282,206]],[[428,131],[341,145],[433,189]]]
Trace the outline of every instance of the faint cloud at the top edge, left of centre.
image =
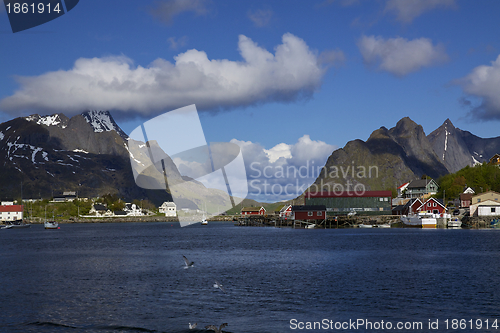
[[150,14],[165,24],[171,24],[175,16],[183,12],[206,15],[209,10],[206,0],[164,0],[157,1]]

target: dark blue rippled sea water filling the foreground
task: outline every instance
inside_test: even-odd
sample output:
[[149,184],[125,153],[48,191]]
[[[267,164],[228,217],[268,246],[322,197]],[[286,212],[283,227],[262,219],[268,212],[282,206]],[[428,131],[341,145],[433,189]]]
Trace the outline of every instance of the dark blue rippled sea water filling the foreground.
[[0,332],[500,330],[500,230],[35,225],[0,265]]

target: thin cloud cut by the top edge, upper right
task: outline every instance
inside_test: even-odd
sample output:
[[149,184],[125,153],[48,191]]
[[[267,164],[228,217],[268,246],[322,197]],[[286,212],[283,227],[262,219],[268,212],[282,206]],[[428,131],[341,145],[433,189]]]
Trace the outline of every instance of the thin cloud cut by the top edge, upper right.
[[398,21],[411,23],[416,17],[430,10],[455,6],[455,0],[388,0],[385,12],[393,12]]

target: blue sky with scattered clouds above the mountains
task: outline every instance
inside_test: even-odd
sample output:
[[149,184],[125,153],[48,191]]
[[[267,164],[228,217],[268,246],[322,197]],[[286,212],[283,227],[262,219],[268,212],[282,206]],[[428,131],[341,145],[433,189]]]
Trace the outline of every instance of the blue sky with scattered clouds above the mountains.
[[13,34],[2,8],[0,121],[107,109],[129,133],[196,104],[207,141],[294,165],[405,116],[426,134],[449,118],[495,137],[499,12],[495,0],[81,0]]

